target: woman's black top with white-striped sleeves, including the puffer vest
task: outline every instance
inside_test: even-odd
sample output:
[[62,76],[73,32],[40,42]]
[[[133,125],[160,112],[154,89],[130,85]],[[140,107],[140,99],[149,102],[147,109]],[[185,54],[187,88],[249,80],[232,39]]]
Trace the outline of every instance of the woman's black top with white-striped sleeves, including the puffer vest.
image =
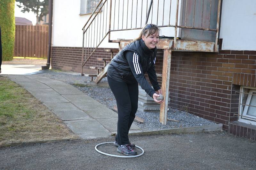
[[[131,42],[113,58],[108,67],[108,76],[116,81],[138,82],[152,97],[155,91],[160,89],[155,71],[156,51],[156,48],[148,49],[142,39]],[[144,77],[146,72],[154,89]]]

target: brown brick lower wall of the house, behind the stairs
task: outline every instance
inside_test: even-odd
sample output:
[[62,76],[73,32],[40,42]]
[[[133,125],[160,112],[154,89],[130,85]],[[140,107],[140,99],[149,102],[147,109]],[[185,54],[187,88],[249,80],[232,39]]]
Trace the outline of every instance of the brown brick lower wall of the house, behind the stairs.
[[[103,66],[97,57],[110,58],[99,48],[84,67]],[[82,48],[52,47],[52,68],[81,72]],[[115,54],[114,54],[115,55]],[[156,72],[162,73],[163,50],[158,50]],[[241,85],[256,86],[256,51],[220,50],[216,53],[172,52],[169,106],[222,123],[228,130],[237,120]]]

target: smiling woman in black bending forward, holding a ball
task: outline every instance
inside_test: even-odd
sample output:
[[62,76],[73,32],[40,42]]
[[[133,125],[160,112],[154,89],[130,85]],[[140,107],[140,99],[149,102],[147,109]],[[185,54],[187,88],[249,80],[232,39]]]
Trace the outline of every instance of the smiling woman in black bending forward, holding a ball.
[[[132,150],[135,145],[130,143],[128,132],[138,109],[138,83],[156,103],[164,102],[156,100],[158,94],[162,93],[155,71],[158,41],[159,28],[154,24],[144,26],[139,37],[119,51],[108,67],[108,84],[116,98],[118,109],[114,145],[118,146],[117,152],[128,156],[137,155]],[[146,72],[154,89],[144,76]]]

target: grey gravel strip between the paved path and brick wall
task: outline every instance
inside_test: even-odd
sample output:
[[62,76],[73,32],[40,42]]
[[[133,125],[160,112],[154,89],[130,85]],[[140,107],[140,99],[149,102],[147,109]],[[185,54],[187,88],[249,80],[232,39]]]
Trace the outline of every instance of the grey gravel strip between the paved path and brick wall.
[[[45,70],[41,74],[42,76],[73,85],[109,109],[113,109],[113,107],[116,106],[116,100],[110,88],[108,87],[107,78],[103,78],[100,83],[96,85],[94,82],[90,82],[90,77],[80,76],[80,73]],[[159,113],[137,111],[136,115],[144,119],[144,123],[134,122],[138,127],[141,128],[142,131],[216,124],[214,122],[208,121],[184,111],[173,109],[171,107],[169,107],[167,118],[178,120],[179,122],[167,121],[167,125],[163,125],[159,122]]]

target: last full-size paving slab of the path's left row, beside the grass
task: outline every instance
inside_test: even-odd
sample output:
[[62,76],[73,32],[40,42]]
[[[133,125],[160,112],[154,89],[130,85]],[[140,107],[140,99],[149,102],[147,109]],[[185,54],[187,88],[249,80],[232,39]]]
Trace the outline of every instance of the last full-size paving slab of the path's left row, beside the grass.
[[67,126],[76,134],[91,134],[91,133],[110,133],[98,121],[91,120],[78,120],[78,121],[65,121]]

